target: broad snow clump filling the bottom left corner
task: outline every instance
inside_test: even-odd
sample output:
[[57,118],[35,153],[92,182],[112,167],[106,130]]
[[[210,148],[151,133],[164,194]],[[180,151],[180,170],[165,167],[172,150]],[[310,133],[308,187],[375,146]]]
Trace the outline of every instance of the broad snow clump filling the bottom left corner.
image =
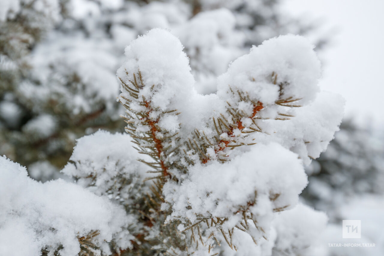
[[[114,234],[126,232],[129,218],[109,199],[63,180],[34,181],[5,157],[0,168],[1,255],[40,255],[41,249],[55,251],[62,245],[60,255],[73,256],[80,251],[79,237],[98,230],[92,242],[103,246]],[[126,248],[129,237],[118,244]]]

